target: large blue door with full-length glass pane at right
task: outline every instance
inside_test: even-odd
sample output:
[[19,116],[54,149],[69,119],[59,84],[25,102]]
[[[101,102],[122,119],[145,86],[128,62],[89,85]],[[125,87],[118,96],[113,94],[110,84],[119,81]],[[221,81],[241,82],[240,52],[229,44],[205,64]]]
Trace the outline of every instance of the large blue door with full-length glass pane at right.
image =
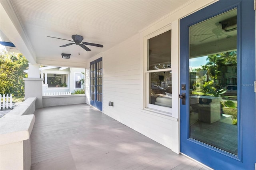
[[253,0],[220,0],[180,20],[180,151],[207,166],[256,163]]

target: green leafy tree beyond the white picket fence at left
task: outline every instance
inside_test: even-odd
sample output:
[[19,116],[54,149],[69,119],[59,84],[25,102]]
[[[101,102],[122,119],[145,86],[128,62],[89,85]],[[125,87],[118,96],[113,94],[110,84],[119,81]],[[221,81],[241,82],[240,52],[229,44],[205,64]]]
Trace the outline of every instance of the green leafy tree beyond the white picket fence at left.
[[21,53],[0,51],[0,94],[24,95],[24,81],[28,60]]

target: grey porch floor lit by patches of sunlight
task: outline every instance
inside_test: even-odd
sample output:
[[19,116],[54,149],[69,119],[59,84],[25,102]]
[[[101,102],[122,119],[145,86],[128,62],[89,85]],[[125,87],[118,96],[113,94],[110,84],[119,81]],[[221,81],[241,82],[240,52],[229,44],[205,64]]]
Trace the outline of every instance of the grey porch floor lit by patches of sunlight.
[[34,114],[32,170],[208,170],[85,104]]

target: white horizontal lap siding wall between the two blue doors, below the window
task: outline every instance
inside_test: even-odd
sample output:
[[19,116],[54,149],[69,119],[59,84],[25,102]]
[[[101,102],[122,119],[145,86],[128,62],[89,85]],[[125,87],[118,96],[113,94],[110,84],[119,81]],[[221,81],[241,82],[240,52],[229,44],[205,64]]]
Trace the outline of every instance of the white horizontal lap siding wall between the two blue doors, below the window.
[[[141,109],[143,75],[140,74],[139,38],[139,34],[133,36],[98,56],[103,57],[103,113],[176,150],[178,122]],[[114,106],[108,106],[109,101]]]

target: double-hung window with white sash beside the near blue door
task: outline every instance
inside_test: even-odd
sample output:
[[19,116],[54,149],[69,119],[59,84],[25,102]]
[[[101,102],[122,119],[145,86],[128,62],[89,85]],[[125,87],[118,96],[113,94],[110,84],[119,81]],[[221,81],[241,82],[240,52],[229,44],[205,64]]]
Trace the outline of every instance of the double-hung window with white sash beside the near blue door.
[[146,39],[146,108],[171,113],[171,30]]

